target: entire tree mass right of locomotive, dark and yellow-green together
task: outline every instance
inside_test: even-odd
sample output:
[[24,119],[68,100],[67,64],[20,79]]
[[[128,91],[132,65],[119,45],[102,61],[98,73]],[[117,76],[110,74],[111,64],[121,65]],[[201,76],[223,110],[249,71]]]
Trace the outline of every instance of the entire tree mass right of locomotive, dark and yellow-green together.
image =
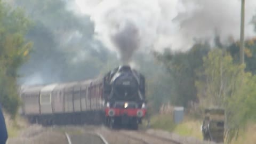
[[[216,45],[221,43],[216,39]],[[207,43],[196,44],[187,52],[164,51],[154,53],[173,78],[174,105],[186,106],[187,102],[199,102],[197,111],[205,107],[219,106],[226,110],[226,137],[230,142],[244,129],[248,121],[255,121],[255,39],[246,42],[245,65],[239,65],[238,44],[227,49],[212,48]],[[231,53],[231,54],[230,54]],[[249,71],[249,72],[246,72]]]

